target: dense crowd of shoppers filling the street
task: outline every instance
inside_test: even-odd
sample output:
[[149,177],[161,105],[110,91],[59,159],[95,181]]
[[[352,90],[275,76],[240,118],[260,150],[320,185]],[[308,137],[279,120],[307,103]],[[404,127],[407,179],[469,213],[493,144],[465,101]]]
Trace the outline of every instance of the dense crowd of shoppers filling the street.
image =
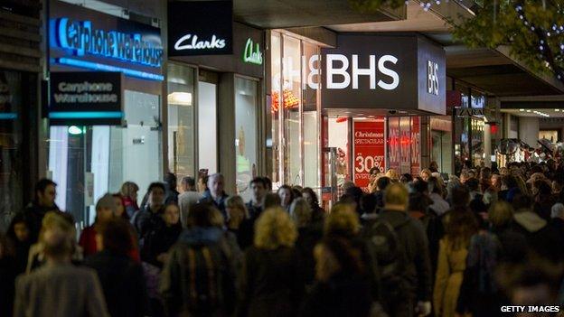
[[[268,177],[125,182],[80,235],[42,179],[0,234],[2,316],[496,316],[564,298],[564,163],[373,168],[324,210]],[[180,192],[178,191],[180,190]],[[324,204],[327,205],[326,203]]]

